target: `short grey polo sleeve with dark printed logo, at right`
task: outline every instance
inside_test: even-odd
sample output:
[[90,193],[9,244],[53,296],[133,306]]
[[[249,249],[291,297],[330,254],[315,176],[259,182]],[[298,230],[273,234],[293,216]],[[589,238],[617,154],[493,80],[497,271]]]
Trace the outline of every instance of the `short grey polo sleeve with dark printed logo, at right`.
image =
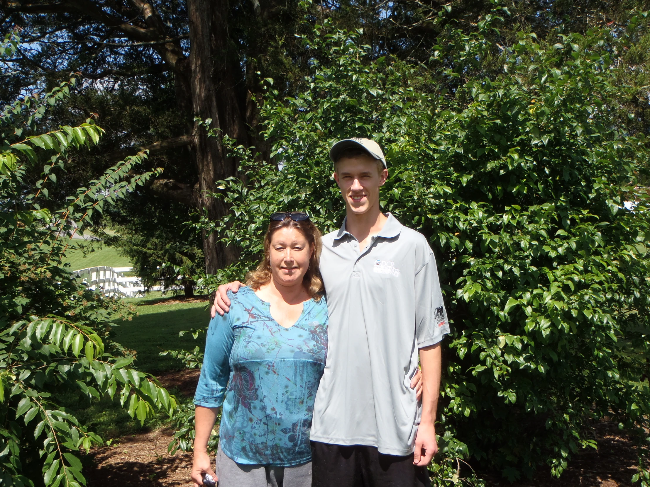
[[415,273],[415,337],[417,347],[424,348],[440,342],[449,332],[447,310],[440,290],[435,256],[429,258]]

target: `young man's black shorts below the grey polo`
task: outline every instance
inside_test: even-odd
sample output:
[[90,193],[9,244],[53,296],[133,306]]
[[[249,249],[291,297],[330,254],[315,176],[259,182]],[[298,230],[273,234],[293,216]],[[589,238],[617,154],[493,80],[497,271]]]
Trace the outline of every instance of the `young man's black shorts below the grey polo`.
[[376,447],[311,442],[312,487],[430,487],[426,467],[413,453],[384,455]]

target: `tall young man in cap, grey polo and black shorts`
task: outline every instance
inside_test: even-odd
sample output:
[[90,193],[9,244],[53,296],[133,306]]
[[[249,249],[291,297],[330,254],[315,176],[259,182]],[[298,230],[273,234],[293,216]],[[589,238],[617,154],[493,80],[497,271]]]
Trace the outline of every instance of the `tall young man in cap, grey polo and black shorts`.
[[[346,218],[323,237],[320,256],[330,323],[310,434],[313,486],[429,486],[449,332],[435,258],[424,236],[382,214],[388,171],[376,142],[341,140],[330,157]],[[227,311],[233,284],[220,286],[213,316]],[[418,358],[421,405],[409,387]]]

